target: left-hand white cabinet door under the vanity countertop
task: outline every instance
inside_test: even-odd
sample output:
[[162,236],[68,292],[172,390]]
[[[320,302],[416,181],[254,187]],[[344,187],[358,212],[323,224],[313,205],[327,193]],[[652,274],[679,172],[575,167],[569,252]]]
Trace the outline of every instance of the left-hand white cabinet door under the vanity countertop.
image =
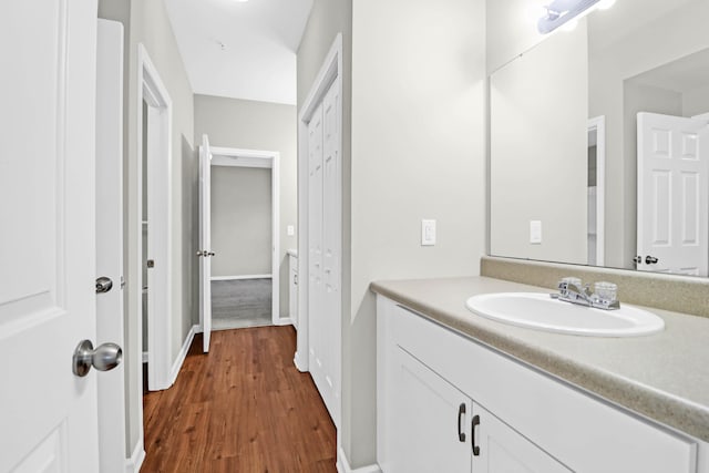
[[471,400],[407,351],[395,350],[391,470],[471,470]]

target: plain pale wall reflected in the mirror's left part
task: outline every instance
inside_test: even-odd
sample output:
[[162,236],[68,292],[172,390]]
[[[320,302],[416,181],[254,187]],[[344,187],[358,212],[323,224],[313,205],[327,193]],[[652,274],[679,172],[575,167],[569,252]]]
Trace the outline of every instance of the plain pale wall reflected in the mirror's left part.
[[[587,50],[582,21],[490,78],[492,255],[588,260]],[[542,244],[530,243],[531,220]]]

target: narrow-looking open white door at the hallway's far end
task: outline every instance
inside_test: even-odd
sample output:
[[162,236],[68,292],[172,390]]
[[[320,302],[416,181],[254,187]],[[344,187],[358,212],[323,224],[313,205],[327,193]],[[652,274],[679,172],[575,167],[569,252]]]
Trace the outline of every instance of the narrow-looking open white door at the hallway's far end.
[[212,153],[209,138],[202,136],[199,148],[199,320],[204,330],[204,352],[212,337]]

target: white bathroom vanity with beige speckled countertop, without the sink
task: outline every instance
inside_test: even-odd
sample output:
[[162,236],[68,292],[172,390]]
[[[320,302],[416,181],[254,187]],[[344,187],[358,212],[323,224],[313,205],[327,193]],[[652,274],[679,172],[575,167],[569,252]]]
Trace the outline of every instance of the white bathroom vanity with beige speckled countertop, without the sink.
[[398,472],[709,472],[709,319],[633,338],[549,333],[465,300],[485,277],[377,292],[378,463]]

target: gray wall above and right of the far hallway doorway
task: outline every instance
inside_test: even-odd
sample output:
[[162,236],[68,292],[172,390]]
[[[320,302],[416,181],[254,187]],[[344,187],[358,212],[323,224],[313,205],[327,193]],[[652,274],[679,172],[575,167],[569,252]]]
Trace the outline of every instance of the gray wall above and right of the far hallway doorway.
[[[280,255],[278,255],[280,316],[287,317],[288,258],[286,251],[289,248],[297,248],[298,245],[296,236],[287,235],[287,226],[296,226],[298,215],[296,107],[210,95],[194,97],[194,136],[197,144],[202,143],[202,135],[207,134],[212,146],[280,153]],[[194,202],[196,205],[196,197]],[[266,273],[270,273],[270,269]]]

